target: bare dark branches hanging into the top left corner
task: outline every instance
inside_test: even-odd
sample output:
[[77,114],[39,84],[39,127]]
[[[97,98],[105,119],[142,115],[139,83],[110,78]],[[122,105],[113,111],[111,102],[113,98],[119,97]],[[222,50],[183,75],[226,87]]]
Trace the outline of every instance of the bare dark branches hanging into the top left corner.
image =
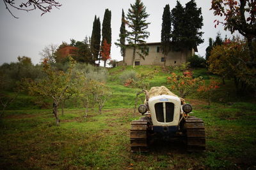
[[47,12],[51,12],[52,7],[58,8],[61,6],[61,4],[55,0],[26,0],[24,2],[18,2],[15,0],[3,0],[6,10],[12,14],[14,18],[18,18],[15,15],[13,15],[10,8],[15,8],[16,10],[22,10],[22,11],[33,11],[33,10],[40,10],[42,11],[42,15],[44,15]]

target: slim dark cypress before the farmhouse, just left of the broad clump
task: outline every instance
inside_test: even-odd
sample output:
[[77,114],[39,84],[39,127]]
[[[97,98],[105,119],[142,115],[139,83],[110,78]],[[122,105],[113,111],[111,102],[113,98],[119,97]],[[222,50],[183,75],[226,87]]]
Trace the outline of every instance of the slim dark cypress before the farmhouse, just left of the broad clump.
[[164,7],[162,20],[163,20],[163,22],[162,22],[162,30],[161,30],[161,43],[162,43],[162,50],[164,53],[164,66],[165,66],[166,55],[170,51],[171,29],[172,29],[171,13],[170,13],[169,4],[166,4],[166,6]]

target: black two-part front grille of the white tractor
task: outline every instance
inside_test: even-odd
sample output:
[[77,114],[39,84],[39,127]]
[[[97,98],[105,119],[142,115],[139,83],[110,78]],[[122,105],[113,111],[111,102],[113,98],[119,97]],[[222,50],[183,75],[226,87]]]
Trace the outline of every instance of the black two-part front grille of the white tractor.
[[[165,110],[164,110],[165,108]],[[155,104],[157,122],[172,122],[174,113],[174,104],[170,102]]]

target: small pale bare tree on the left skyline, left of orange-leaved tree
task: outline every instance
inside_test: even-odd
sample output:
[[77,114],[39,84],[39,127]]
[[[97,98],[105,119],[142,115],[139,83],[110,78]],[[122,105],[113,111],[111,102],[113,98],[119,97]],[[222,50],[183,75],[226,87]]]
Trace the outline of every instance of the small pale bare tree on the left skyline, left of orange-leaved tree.
[[47,59],[50,64],[56,62],[56,51],[58,49],[58,45],[48,45],[40,52],[39,54],[42,56],[42,60]]

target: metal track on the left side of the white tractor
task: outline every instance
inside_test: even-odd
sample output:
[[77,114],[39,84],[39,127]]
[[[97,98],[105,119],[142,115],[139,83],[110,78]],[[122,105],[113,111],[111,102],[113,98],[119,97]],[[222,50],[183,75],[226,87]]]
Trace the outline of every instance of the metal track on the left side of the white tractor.
[[132,152],[148,152],[147,120],[132,121],[130,138]]

